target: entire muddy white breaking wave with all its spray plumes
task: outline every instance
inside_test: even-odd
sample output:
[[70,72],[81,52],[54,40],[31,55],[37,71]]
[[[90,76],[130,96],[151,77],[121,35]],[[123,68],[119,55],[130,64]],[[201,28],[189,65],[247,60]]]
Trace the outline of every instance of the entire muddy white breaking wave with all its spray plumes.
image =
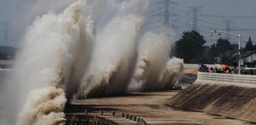
[[142,33],[148,4],[82,0],[63,13],[38,17],[4,86],[3,96],[17,95],[3,99],[8,123],[65,124],[63,110],[71,99],[171,88],[183,60],[170,58],[166,33]]

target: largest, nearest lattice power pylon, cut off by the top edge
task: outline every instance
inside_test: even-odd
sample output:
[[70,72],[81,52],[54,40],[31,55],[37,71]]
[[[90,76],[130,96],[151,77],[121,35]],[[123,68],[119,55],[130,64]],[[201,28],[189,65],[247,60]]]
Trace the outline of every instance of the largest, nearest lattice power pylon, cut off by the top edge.
[[[165,7],[165,12],[154,14],[153,16],[154,17],[155,16],[165,17],[165,27],[167,29],[169,29],[170,28],[170,23],[169,23],[170,18],[172,18],[172,17],[180,17],[180,15],[177,15],[177,14],[174,14],[174,13],[170,12],[170,7],[172,7],[172,5],[175,5],[174,7],[172,7],[172,9],[174,9],[175,7],[178,6],[178,3],[170,1],[170,0],[163,0],[163,1],[160,1],[160,2],[156,2],[155,5],[159,9],[162,9],[163,7]],[[162,6],[159,6],[159,5],[162,5]],[[162,20],[162,18],[160,20]],[[158,20],[158,21],[160,21],[160,20]],[[173,20],[173,18],[172,18],[172,20]],[[174,21],[176,21],[176,20],[174,20]],[[178,28],[178,27],[172,26],[172,28]]]

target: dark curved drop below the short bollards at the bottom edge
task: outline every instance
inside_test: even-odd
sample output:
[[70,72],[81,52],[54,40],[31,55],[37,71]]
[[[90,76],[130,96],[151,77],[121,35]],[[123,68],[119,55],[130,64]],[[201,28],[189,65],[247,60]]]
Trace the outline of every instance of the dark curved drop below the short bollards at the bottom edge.
[[104,117],[82,114],[65,114],[65,125],[118,125]]

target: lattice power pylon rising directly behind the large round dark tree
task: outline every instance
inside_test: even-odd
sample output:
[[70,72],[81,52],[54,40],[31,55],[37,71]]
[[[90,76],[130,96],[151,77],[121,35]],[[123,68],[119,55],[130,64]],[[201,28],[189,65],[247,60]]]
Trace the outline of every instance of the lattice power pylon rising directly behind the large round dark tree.
[[198,30],[197,22],[198,22],[198,21],[203,22],[203,20],[200,20],[200,19],[197,18],[197,17],[198,17],[198,15],[197,15],[197,12],[198,12],[198,11],[201,12],[201,15],[200,15],[200,16],[202,16],[202,11],[199,10],[199,8],[202,8],[202,7],[188,7],[188,8],[191,9],[191,10],[188,11],[188,15],[189,15],[190,12],[192,12],[192,13],[193,13],[193,18],[192,18],[191,20],[188,20],[188,21],[186,22],[186,25],[188,25],[188,22],[192,21],[192,30],[196,30],[196,31],[197,31],[197,30]]

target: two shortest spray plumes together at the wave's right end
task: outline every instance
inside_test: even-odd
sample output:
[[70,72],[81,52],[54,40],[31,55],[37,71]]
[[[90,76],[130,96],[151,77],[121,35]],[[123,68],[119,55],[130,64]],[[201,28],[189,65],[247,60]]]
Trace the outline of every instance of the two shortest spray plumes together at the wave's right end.
[[136,70],[128,91],[170,89],[183,71],[183,60],[170,59],[170,38],[163,33],[146,32],[141,38]]

